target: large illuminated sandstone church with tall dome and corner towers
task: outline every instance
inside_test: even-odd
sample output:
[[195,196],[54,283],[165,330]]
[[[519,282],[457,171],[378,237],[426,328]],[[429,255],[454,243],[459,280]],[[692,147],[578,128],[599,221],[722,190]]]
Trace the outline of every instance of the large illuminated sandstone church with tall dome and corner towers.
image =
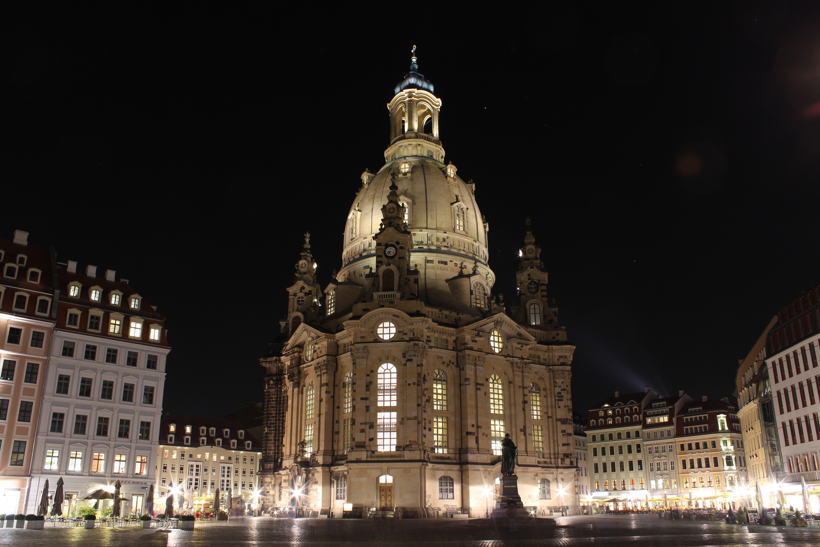
[[342,267],[322,289],[306,237],[261,360],[266,508],[483,515],[508,433],[524,505],[576,511],[575,348],[541,248],[528,223],[508,314],[476,183],[444,162],[442,101],[416,57],[387,107],[385,165],[345,213]]

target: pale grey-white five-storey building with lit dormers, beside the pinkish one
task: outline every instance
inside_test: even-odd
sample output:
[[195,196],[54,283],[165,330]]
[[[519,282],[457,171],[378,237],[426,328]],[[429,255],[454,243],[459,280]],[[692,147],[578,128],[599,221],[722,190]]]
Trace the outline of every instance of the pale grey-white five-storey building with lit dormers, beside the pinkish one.
[[140,513],[157,472],[166,357],[164,317],[116,272],[57,264],[59,307],[26,511],[46,479],[69,499],[121,482]]

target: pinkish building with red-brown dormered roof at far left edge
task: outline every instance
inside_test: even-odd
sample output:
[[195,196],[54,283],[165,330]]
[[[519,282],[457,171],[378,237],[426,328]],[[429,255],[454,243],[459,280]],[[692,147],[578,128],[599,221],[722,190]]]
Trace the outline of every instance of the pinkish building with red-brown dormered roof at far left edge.
[[21,513],[57,321],[57,255],[0,239],[0,513]]

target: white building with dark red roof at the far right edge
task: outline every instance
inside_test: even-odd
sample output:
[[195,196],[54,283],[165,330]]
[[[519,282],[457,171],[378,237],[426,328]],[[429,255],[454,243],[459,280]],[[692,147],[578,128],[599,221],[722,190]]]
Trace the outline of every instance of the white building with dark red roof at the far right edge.
[[[766,362],[775,401],[784,475],[781,481],[820,487],[820,286],[777,312]],[[817,508],[813,508],[817,510]]]

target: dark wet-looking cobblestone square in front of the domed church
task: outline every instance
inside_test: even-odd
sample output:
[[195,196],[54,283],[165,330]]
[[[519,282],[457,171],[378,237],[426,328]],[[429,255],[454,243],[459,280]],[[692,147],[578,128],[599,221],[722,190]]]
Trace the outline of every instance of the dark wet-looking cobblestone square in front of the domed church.
[[453,519],[342,520],[270,519],[249,523],[197,522],[196,530],[143,530],[126,528],[57,528],[44,531],[0,529],[0,545],[266,545],[303,547],[338,545],[419,545],[421,547],[495,547],[498,545],[818,545],[820,528],[730,525],[722,522],[669,522],[649,515],[610,517],[558,517],[558,526],[520,522],[518,531],[470,526]]

